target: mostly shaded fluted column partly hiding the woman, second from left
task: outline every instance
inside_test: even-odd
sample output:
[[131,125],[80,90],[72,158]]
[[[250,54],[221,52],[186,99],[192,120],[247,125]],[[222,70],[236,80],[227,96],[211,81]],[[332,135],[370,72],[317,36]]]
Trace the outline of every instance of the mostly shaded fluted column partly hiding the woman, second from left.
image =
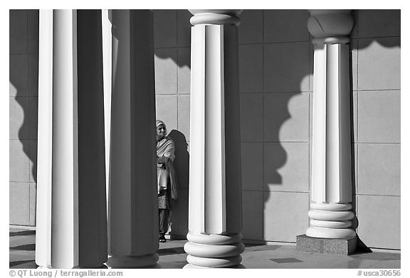
[[152,12],[112,10],[109,267],[158,260]]

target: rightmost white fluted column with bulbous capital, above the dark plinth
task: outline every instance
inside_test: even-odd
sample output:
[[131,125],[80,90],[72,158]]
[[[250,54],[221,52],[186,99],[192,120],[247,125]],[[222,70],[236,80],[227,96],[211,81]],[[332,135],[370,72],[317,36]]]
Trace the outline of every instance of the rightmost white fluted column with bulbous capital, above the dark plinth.
[[310,237],[350,238],[352,161],[349,87],[350,10],[310,10],[315,36]]

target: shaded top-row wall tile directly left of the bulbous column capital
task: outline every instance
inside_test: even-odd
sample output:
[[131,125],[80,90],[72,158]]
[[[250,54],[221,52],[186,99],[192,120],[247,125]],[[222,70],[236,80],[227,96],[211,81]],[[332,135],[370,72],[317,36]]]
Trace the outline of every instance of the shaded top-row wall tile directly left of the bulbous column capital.
[[265,10],[263,41],[309,41],[308,18],[308,10]]

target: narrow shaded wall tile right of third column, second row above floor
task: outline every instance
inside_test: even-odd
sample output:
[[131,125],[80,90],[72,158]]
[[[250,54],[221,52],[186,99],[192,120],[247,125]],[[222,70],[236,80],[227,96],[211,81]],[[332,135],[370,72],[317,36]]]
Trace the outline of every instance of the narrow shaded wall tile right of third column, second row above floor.
[[242,142],[241,144],[242,189],[263,190],[263,143]]

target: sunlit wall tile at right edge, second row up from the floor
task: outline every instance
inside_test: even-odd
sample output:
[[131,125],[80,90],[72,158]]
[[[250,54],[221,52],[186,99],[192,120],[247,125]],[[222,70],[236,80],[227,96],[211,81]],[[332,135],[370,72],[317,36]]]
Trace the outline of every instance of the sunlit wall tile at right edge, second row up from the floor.
[[400,195],[400,144],[358,144],[357,193]]

